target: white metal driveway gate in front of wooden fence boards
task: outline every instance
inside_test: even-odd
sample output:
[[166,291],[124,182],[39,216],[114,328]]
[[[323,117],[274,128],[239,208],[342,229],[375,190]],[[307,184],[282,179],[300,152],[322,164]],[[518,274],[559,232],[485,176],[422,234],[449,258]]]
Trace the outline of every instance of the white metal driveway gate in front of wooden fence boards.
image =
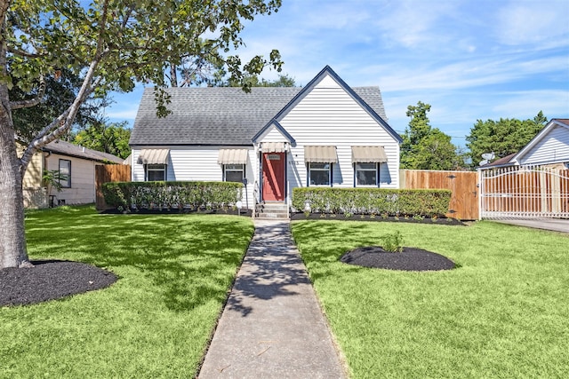
[[569,218],[569,170],[511,166],[478,174],[481,218]]

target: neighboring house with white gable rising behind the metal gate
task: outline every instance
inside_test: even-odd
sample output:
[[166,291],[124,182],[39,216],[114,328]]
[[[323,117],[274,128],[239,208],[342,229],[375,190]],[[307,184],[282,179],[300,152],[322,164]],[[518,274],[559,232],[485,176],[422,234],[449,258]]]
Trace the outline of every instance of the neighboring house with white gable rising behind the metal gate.
[[569,168],[569,119],[551,119],[519,152],[502,157],[480,169],[509,166]]

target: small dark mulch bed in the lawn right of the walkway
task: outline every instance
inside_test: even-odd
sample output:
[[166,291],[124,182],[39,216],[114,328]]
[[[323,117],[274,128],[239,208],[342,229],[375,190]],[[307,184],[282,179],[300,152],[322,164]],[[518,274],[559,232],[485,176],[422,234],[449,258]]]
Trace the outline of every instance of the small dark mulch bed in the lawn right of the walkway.
[[379,246],[370,246],[351,250],[340,260],[349,265],[403,271],[439,271],[455,267],[454,262],[447,257],[416,248],[404,248],[401,253],[391,253]]

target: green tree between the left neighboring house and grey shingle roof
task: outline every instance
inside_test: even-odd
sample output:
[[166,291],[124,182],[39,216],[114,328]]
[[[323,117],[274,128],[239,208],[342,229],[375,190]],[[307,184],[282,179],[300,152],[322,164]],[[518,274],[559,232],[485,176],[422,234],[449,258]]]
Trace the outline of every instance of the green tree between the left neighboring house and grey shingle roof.
[[93,122],[86,129],[76,133],[72,143],[126,158],[131,154],[131,146],[128,145],[131,129],[127,125],[128,122],[107,123],[105,120]]

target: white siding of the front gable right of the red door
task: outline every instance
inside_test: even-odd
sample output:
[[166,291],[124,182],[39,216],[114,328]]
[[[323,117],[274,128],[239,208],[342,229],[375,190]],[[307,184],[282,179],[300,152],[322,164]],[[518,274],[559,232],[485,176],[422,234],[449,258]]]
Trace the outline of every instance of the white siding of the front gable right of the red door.
[[333,165],[333,186],[354,186],[351,146],[383,146],[388,163],[381,164],[380,187],[397,188],[399,144],[373,117],[326,76],[280,121],[296,140],[288,157],[290,187],[307,185],[305,145],[336,146],[338,163]]

